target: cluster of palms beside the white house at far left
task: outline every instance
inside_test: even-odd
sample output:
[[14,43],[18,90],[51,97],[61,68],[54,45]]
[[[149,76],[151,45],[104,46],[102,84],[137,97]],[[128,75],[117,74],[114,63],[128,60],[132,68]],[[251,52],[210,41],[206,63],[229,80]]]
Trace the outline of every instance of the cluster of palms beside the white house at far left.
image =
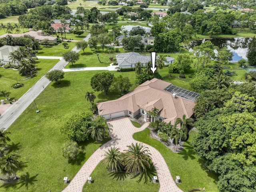
[[34,69],[35,57],[30,47],[20,47],[11,52],[9,58],[14,65],[18,65],[20,62],[19,74],[28,75]]

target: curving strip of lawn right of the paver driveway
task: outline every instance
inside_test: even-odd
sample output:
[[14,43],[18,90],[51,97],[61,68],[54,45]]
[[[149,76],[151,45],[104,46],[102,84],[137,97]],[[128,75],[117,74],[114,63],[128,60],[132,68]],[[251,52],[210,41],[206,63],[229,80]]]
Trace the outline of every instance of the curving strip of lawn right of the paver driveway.
[[156,148],[164,157],[173,178],[180,176],[181,184],[178,187],[183,191],[203,189],[218,192],[216,181],[218,176],[204,167],[204,161],[199,158],[190,145],[194,131],[190,131],[188,141],[184,143],[184,149],[179,153],[172,152],[158,140],[150,138],[150,130],[146,128],[142,132],[135,133],[134,139],[149,144]]

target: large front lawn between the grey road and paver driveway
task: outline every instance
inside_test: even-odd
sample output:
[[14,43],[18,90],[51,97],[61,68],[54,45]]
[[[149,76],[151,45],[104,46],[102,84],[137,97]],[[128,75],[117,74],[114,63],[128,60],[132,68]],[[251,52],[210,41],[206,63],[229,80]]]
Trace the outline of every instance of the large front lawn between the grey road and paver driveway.
[[[9,192],[42,191],[42,189],[61,191],[66,186],[63,184],[63,178],[67,176],[71,180],[88,157],[99,148],[101,144],[96,142],[80,143],[80,146],[84,147],[84,158],[69,164],[62,157],[61,147],[66,142],[66,138],[60,134],[60,128],[74,112],[90,109],[90,103],[84,95],[87,91],[93,91],[90,78],[101,72],[103,71],[65,73],[60,85],[50,83],[36,98],[40,113],[35,114],[35,105],[32,103],[8,128],[11,132],[11,142],[14,143],[13,152],[19,154],[20,160],[25,162],[17,174],[23,176],[28,172],[30,175],[27,180],[28,189],[25,185],[12,184],[8,188]],[[128,76],[133,84],[130,90],[136,87],[134,72],[112,73]],[[96,102],[103,98],[113,100],[120,97],[114,92],[108,92],[108,95],[104,92],[94,94],[96,94]],[[6,185],[1,187],[7,188]]]

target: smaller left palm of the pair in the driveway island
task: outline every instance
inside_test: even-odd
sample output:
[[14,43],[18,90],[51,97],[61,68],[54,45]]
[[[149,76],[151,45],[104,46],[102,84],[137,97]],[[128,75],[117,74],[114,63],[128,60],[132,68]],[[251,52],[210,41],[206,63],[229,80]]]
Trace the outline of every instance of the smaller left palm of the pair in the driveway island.
[[103,155],[105,158],[103,159],[103,164],[108,167],[108,170],[111,172],[116,172],[118,170],[122,170],[122,153],[120,153],[119,148],[111,147],[108,148],[108,151],[105,151]]

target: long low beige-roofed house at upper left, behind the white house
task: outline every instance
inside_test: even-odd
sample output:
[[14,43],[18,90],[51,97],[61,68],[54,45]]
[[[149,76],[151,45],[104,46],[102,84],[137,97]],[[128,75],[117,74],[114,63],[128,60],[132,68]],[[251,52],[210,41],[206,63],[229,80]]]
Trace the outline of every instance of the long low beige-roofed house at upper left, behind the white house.
[[23,37],[24,35],[29,35],[34,37],[36,40],[38,40],[39,42],[41,42],[43,39],[48,39],[49,42],[57,42],[57,38],[56,37],[52,37],[52,36],[44,36],[44,33],[42,32],[42,30],[38,30],[38,31],[29,31],[26,33],[22,33],[22,34],[3,34],[0,36],[0,38],[6,37],[7,35],[12,36],[13,38],[18,38],[18,37]]

